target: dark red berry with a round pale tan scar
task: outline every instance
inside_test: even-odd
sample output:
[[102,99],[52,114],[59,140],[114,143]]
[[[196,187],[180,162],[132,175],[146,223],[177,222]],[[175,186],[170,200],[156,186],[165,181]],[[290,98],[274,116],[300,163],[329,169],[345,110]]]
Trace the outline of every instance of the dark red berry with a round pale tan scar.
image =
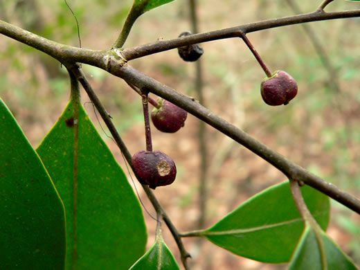
[[132,156],[132,166],[138,181],[150,188],[167,186],[174,182],[177,167],[170,156],[160,151],[141,151]]

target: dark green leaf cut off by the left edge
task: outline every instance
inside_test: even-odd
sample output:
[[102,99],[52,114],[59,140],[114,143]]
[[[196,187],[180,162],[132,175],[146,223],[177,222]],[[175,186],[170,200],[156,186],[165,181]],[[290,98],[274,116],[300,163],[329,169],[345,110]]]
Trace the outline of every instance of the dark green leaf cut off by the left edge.
[[0,131],[0,269],[64,269],[64,206],[1,98]]

